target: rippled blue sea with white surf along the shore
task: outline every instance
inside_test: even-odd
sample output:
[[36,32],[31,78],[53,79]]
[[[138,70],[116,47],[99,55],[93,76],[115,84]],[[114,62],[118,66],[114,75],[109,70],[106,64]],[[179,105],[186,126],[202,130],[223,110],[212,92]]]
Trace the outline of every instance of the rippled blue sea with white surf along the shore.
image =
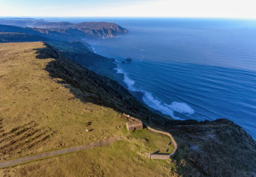
[[[47,19],[49,20],[49,19]],[[227,118],[256,139],[256,21],[182,18],[65,18],[114,22],[129,33],[86,40],[117,61],[143,101],[175,119]],[[127,58],[130,63],[121,63]]]

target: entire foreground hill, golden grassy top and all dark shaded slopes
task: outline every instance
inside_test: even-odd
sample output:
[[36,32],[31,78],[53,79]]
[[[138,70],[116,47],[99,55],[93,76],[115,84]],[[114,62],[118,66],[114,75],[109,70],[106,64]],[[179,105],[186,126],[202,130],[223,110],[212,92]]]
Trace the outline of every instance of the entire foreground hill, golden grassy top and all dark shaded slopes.
[[[56,45],[63,53],[86,47]],[[42,42],[1,43],[0,56],[0,161],[124,137],[111,146],[1,169],[0,176],[256,175],[256,141],[232,121],[161,118],[117,82]],[[169,140],[146,129],[128,132],[121,113],[170,132],[178,144],[174,158],[148,159],[148,152],[164,152]]]

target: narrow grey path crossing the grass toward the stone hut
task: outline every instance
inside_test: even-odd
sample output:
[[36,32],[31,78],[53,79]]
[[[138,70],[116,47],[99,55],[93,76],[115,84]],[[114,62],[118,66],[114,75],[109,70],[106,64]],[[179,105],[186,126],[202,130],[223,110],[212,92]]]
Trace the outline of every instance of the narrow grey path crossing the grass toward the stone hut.
[[81,146],[76,146],[76,147],[53,150],[53,151],[50,151],[50,152],[43,152],[43,153],[39,153],[39,154],[35,154],[35,155],[30,155],[30,156],[27,156],[27,157],[17,158],[17,159],[14,159],[14,160],[4,161],[4,162],[0,162],[0,168],[16,165],[16,164],[27,162],[27,161],[30,161],[30,160],[37,160],[37,159],[44,158],[44,157],[61,155],[61,154],[65,154],[65,153],[76,152],[76,151],[86,150],[86,149],[95,148],[95,147],[103,147],[105,145],[112,145],[112,143],[114,143],[115,141],[122,140],[122,139],[123,139],[122,137],[119,137],[119,138],[111,137],[111,138],[108,138],[107,140],[102,140],[102,141],[98,141],[98,142],[95,142],[95,143],[90,143],[90,144],[87,144],[87,145],[81,145]]

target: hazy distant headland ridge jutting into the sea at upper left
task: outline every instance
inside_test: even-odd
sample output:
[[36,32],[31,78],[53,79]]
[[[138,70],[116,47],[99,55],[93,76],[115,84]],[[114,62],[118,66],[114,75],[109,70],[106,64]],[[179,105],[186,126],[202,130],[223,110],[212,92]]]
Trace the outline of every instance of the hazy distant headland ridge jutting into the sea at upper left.
[[[77,38],[97,38],[97,37],[108,38],[108,37],[115,37],[123,33],[128,33],[127,29],[124,29],[115,23],[107,23],[107,22],[83,22],[79,24],[72,24],[68,22],[47,22],[42,19],[37,20],[37,19],[27,19],[27,18],[26,19],[4,18],[4,19],[0,19],[0,24],[8,25],[8,26],[18,26],[23,28],[27,27],[26,28],[27,30],[32,29],[42,34],[53,35],[53,38],[58,38],[58,36],[63,37],[68,35],[69,36],[68,40],[70,40],[71,38],[75,38],[75,40],[78,40]],[[21,29],[21,30],[22,31],[3,31],[3,30],[0,30],[0,31],[1,32],[24,32],[24,29]]]

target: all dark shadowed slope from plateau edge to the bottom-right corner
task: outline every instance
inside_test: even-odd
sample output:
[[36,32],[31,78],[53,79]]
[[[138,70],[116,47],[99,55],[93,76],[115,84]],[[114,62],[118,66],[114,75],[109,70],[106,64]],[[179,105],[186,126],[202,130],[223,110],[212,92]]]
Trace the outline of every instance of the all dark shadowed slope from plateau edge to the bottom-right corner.
[[[255,171],[256,142],[233,122],[226,119],[210,122],[169,120],[162,126],[160,123],[166,119],[150,112],[117,82],[83,68],[48,44],[45,44],[45,48],[35,50],[38,59],[54,59],[45,70],[49,76],[61,78],[63,81],[58,83],[70,89],[74,98],[113,108],[172,133],[178,143],[178,151],[173,159],[178,161],[174,162],[178,166],[178,174],[188,177],[236,177],[240,169]],[[208,133],[213,135],[212,138],[207,136]],[[190,148],[194,144],[203,152],[195,153]]]

